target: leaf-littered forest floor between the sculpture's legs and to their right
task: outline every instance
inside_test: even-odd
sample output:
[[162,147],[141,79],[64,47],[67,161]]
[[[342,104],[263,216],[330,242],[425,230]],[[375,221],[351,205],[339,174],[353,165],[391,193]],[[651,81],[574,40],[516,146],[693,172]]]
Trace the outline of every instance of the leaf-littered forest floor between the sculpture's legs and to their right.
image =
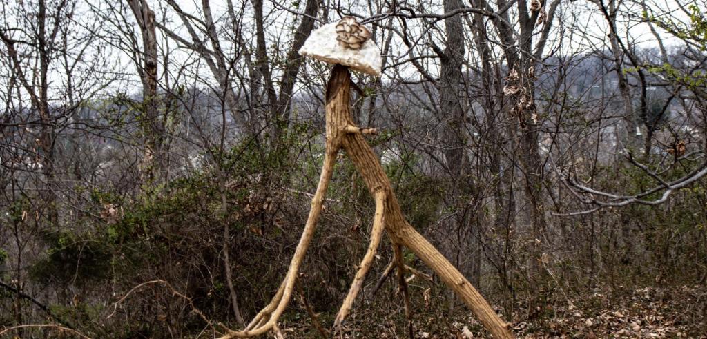
[[[378,311],[381,311],[378,309]],[[357,329],[341,338],[408,338],[401,324],[403,312],[372,314]],[[457,311],[440,319],[430,314],[414,316],[414,337],[428,339],[491,338],[474,316]],[[525,314],[531,312],[525,311]],[[707,338],[707,289],[704,286],[619,287],[611,292],[566,296],[552,305],[536,306],[531,316],[516,316],[513,332],[518,338]],[[527,320],[522,320],[526,318]],[[372,319],[375,319],[373,321]],[[375,325],[373,324],[375,323]],[[318,338],[305,316],[285,331],[298,338]],[[305,328],[310,328],[310,331]],[[309,333],[304,335],[303,333]],[[304,336],[302,336],[304,335]],[[338,337],[337,337],[338,338]]]

